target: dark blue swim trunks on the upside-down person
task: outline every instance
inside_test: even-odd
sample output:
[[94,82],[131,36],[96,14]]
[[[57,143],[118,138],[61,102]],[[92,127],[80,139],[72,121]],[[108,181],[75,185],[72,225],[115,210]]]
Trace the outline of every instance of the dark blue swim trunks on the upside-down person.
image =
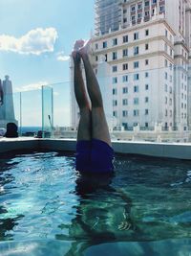
[[81,140],[76,145],[75,169],[84,173],[109,173],[114,171],[114,150],[104,141]]

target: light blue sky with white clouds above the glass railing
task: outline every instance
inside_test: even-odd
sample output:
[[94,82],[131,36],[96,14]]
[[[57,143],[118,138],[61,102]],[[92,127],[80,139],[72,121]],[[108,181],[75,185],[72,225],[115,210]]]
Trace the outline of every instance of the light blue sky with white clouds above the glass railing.
[[94,0],[1,0],[0,78],[13,90],[68,81],[77,38],[94,30]]

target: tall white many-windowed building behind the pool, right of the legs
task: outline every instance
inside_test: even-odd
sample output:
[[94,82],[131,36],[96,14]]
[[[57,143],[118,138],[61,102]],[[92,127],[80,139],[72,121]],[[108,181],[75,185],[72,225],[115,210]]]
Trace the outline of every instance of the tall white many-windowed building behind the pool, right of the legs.
[[96,72],[100,59],[108,64],[114,126],[191,125],[190,6],[191,0],[96,0],[93,60]]

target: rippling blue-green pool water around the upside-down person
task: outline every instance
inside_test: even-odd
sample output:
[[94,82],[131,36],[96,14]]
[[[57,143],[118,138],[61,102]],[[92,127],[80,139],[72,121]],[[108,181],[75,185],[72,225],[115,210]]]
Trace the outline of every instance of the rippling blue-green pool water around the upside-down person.
[[191,162],[117,156],[84,176],[74,154],[0,158],[0,255],[191,255]]

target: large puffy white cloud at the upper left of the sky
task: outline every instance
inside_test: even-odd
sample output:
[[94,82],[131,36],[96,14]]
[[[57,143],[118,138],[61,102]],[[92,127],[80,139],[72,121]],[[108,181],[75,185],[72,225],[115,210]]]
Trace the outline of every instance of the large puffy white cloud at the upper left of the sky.
[[53,52],[57,32],[54,28],[37,28],[19,38],[11,35],[0,35],[0,51],[15,52],[25,55],[41,55]]

